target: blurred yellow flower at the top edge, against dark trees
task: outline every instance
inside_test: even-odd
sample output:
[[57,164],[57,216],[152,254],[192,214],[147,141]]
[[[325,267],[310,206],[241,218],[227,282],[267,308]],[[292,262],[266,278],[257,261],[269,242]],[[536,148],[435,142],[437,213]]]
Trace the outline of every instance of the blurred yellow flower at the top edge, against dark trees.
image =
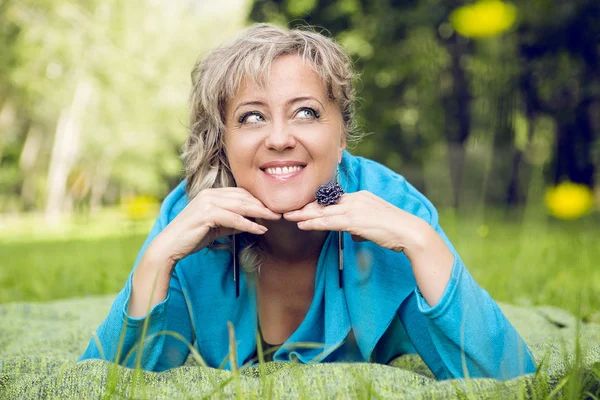
[[484,38],[510,29],[517,19],[517,8],[500,0],[481,0],[452,11],[450,23],[462,36]]

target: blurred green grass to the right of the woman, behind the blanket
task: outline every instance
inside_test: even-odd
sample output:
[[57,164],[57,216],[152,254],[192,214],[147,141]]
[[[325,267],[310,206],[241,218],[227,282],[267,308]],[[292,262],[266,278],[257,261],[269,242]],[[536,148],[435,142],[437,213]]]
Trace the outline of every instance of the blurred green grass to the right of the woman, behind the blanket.
[[553,305],[600,322],[600,220],[523,221],[441,216],[465,265],[491,296],[520,305]]

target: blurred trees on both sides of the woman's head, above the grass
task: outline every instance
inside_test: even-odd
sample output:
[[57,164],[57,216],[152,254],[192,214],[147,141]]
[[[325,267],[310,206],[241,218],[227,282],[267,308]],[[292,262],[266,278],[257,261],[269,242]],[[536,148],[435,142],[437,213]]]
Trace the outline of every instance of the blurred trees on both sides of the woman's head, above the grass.
[[518,203],[535,176],[596,184],[597,1],[249,5],[0,0],[0,212],[163,196],[181,175],[192,65],[246,17],[335,37],[360,73],[358,124],[373,133],[355,153],[437,205]]

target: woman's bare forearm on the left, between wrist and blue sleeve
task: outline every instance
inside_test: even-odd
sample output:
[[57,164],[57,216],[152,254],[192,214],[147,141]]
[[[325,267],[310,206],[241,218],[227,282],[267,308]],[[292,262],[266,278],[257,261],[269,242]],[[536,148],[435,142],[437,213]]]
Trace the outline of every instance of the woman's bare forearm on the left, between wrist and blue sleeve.
[[163,257],[156,246],[151,244],[148,247],[131,280],[130,317],[145,316],[152,307],[167,298],[173,267],[174,263]]

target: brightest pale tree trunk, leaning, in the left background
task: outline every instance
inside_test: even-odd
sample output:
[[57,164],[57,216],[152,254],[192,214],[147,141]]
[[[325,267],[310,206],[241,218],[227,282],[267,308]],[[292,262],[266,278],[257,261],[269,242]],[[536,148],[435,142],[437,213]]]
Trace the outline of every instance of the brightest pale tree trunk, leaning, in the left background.
[[50,157],[46,186],[46,222],[55,223],[63,211],[67,177],[76,161],[81,134],[81,119],[92,96],[92,85],[86,80],[77,82],[73,101],[60,113]]

